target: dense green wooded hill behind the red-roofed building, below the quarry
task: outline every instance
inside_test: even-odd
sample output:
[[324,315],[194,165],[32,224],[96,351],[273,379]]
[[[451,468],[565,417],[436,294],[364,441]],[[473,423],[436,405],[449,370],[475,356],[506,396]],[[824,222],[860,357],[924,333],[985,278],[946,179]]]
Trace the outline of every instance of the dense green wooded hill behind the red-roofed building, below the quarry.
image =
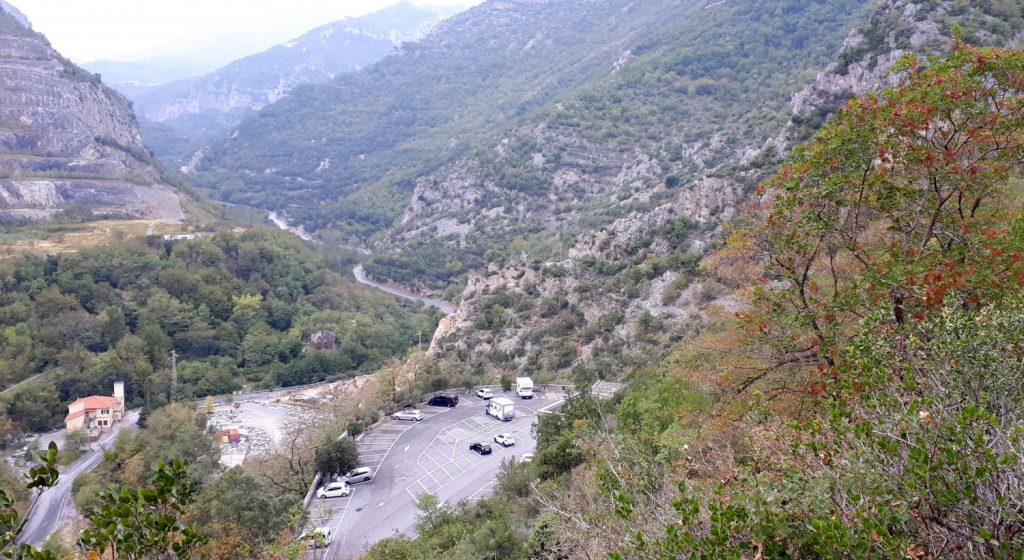
[[[402,355],[437,315],[344,279],[283,231],[113,243],[0,261],[0,383],[40,383],[2,397],[38,431],[65,402],[126,383],[131,406],[246,387],[354,375]],[[331,347],[304,348],[327,331]]]

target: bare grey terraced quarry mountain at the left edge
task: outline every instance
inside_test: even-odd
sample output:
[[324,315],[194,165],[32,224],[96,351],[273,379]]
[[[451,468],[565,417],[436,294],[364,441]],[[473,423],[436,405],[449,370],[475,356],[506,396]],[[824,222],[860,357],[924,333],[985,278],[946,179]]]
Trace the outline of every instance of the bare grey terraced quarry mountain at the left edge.
[[130,103],[0,8],[0,221],[182,217]]

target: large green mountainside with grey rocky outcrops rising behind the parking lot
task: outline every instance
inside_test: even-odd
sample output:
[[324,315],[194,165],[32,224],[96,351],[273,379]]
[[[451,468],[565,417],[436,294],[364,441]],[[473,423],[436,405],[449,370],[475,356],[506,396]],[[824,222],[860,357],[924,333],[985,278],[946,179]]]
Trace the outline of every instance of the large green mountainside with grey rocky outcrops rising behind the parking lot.
[[1013,40],[1004,8],[489,2],[268,105],[196,176],[461,297],[431,348],[454,371],[614,368],[731,305],[700,261],[796,142],[956,27]]

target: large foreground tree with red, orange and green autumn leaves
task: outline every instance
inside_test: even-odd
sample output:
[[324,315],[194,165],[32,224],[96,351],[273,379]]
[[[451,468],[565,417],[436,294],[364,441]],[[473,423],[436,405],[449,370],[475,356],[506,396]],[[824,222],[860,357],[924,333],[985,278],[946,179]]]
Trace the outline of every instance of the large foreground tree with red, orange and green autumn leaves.
[[[920,320],[956,291],[963,304],[1024,285],[1008,189],[1024,161],[1024,54],[962,42],[944,59],[905,60],[884,95],[852,100],[760,191],[770,197],[752,243],[767,263],[746,327],[778,367],[837,375],[863,310]],[[771,284],[774,282],[774,284]]]

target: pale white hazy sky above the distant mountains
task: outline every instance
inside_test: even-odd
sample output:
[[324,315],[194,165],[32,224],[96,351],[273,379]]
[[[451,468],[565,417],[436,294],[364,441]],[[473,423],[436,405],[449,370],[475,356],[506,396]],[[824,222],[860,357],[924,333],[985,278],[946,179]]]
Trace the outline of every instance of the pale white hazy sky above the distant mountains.
[[[77,62],[187,56],[218,44],[239,55],[263,50],[312,28],[361,15],[398,0],[8,0]],[[480,0],[423,0],[463,5]],[[225,47],[225,39],[230,39]]]

